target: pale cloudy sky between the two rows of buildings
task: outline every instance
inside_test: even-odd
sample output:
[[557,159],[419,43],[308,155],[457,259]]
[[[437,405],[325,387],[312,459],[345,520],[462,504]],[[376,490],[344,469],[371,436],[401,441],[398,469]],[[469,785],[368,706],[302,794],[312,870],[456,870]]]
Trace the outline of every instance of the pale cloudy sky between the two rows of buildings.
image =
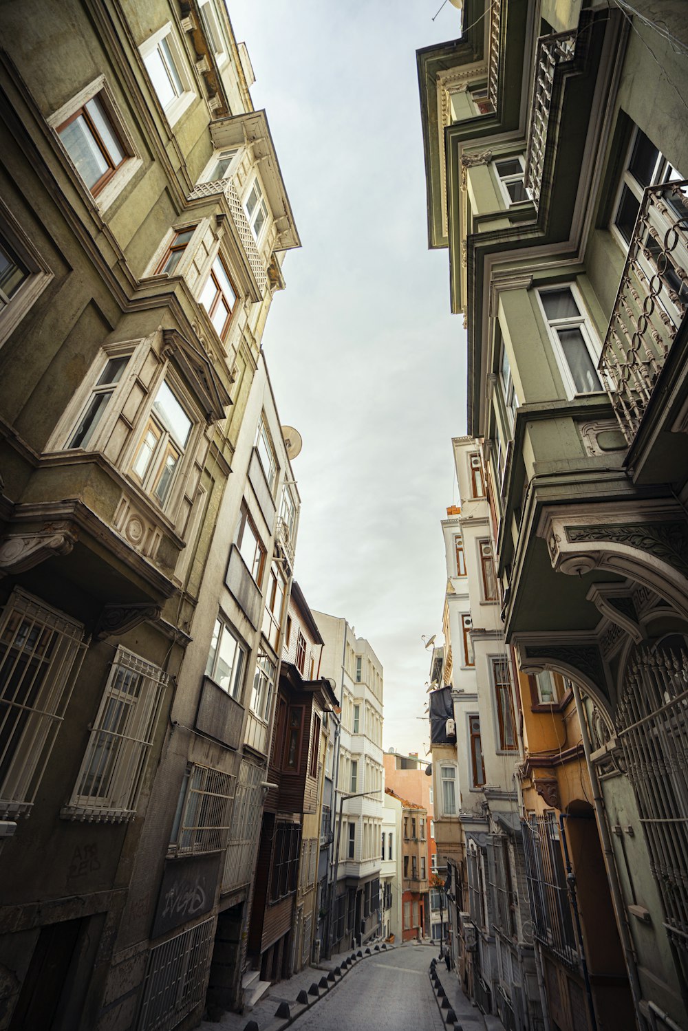
[[427,248],[416,49],[453,39],[440,0],[228,0],[256,74],[302,247],[263,346],[280,417],[303,437],[296,578],[385,670],[384,745],[424,754],[441,629],[439,521],[456,500],[465,333],[449,259]]

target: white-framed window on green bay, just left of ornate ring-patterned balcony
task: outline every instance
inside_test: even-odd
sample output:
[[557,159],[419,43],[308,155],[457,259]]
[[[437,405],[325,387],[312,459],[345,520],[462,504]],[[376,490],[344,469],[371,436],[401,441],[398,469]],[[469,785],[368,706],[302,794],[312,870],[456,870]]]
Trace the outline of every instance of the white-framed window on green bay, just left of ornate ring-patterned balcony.
[[601,391],[599,348],[576,288],[538,290],[537,297],[568,397]]

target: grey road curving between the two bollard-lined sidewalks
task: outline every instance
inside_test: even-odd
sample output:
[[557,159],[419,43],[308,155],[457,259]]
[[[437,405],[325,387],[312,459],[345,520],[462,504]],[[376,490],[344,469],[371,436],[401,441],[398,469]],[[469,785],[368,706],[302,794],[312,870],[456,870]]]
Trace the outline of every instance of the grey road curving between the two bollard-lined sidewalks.
[[295,1031],[444,1031],[428,977],[434,951],[407,945],[359,963]]

